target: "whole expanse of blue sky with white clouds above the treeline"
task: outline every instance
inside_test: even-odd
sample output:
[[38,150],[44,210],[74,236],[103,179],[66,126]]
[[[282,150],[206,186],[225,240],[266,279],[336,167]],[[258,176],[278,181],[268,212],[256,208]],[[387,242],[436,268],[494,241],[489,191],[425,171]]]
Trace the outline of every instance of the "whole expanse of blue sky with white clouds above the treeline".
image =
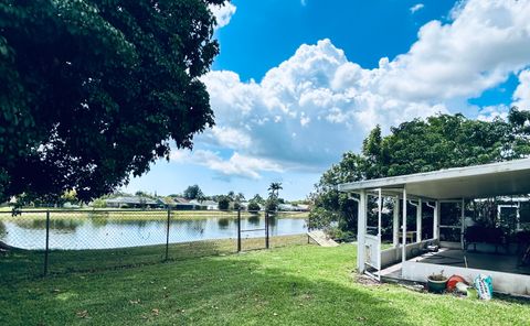
[[375,124],[530,108],[528,1],[264,0],[212,8],[216,127],[127,191],[305,198]]

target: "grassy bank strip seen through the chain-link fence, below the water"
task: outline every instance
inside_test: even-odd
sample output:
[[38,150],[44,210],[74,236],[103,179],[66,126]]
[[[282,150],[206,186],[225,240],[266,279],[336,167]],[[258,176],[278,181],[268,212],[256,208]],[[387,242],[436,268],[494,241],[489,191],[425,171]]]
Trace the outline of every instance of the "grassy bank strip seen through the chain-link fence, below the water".
[[[306,243],[306,237],[283,236],[271,238],[271,247],[285,247]],[[263,249],[264,238],[243,240],[243,250]],[[165,261],[179,261],[199,257],[225,256],[237,251],[236,239],[204,240],[170,243],[166,246],[144,246],[98,250],[51,250],[47,273],[50,275],[75,272],[99,272],[113,269],[127,269],[156,264]],[[0,256],[0,284],[43,276],[43,250],[12,249]]]

